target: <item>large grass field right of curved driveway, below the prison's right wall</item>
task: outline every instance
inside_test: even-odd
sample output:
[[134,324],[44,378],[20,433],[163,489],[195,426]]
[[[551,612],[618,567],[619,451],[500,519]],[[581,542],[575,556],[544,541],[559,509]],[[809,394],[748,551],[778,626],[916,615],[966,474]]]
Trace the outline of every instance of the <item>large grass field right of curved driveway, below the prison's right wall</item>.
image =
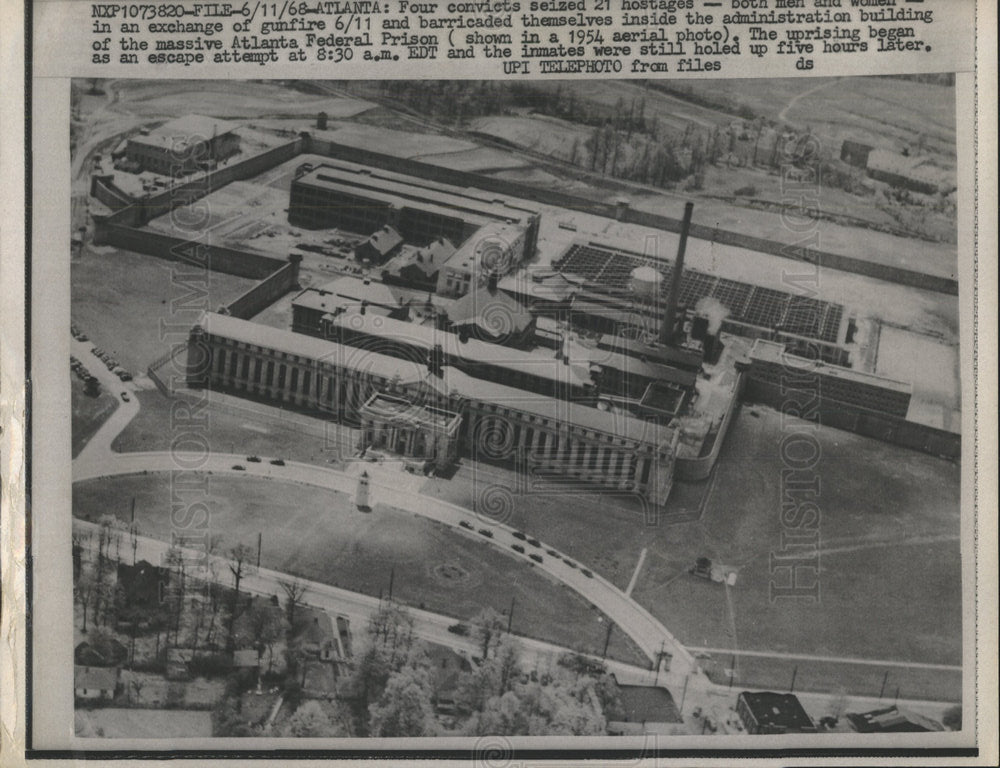
[[[515,496],[510,524],[623,588],[648,548],[632,596],[692,646],[732,648],[735,638],[748,650],[959,664],[959,467],[819,428],[820,602],[772,603],[784,433],[778,414],[753,413],[737,417],[714,477],[676,484],[656,525],[621,497],[538,493]],[[466,467],[426,490],[472,504],[490,482],[513,482],[490,467],[473,476]],[[737,569],[731,605],[724,588],[688,575],[701,555]]]

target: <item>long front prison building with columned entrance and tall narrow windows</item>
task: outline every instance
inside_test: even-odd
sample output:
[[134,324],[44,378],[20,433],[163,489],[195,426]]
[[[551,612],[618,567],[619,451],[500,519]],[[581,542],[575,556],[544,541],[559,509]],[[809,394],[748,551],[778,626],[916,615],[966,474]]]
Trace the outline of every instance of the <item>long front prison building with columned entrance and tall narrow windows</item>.
[[[662,505],[676,429],[543,397],[444,364],[398,357],[206,313],[190,333],[187,380],[317,413],[384,449],[443,469],[459,456],[513,465],[532,482],[632,493]],[[564,488],[565,490],[565,488]]]

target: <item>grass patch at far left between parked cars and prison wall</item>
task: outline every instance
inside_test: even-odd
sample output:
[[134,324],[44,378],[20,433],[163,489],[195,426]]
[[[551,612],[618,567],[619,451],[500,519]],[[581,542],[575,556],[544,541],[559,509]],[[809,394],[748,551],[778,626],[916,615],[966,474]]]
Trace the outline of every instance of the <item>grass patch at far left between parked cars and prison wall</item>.
[[133,372],[185,341],[203,310],[256,282],[111,247],[88,248],[73,261],[71,280],[74,322]]

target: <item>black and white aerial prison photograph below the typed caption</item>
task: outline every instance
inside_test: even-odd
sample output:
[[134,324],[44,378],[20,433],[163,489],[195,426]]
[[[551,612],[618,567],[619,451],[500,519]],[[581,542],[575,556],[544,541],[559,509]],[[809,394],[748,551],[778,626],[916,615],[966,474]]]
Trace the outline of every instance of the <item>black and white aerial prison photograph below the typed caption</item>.
[[69,99],[87,748],[968,731],[953,74]]

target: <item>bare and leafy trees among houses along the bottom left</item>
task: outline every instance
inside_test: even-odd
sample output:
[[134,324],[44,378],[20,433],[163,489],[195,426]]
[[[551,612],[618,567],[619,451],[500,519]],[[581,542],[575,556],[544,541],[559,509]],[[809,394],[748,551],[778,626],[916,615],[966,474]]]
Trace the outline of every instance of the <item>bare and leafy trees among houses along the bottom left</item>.
[[[409,611],[391,600],[372,615],[354,658],[338,667],[335,696],[308,699],[306,671],[318,662],[312,660],[315,649],[303,645],[298,631],[308,620],[303,617],[304,584],[283,582],[283,601],[248,595],[245,580],[254,569],[255,552],[242,544],[223,549],[216,540],[211,550],[220,556],[197,562],[207,573],[193,567],[190,553],[171,548],[164,561],[169,581],[162,599],[151,600],[148,589],[133,594],[118,580],[123,558],[135,563],[137,541],[138,530],[111,515],[100,520],[93,534],[74,538],[76,599],[85,622],[89,620],[94,640],[113,636],[115,629],[127,631],[130,664],[142,632],[156,635],[155,660],[144,662],[147,667],[162,668],[171,647],[205,651],[191,662],[195,671],[228,676],[212,714],[216,735],[602,734],[605,713],[614,709],[614,686],[603,669],[595,673],[570,658],[552,670],[526,671],[520,649],[507,633],[507,618],[487,609],[472,622],[477,656],[450,680],[454,714],[443,721],[435,712],[441,681],[427,647],[417,638]],[[256,650],[256,670],[234,672],[228,666],[238,648]],[[260,712],[245,708],[246,692],[261,677],[269,685],[282,685],[285,702],[294,710],[274,727],[266,725]]]

